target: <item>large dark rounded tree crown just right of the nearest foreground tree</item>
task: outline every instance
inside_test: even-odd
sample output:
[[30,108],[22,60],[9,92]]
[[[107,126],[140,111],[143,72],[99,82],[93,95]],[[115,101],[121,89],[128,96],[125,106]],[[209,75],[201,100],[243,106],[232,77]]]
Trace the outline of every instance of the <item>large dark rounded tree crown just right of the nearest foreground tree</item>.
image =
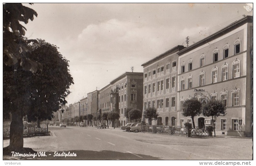
[[[68,72],[68,61],[58,52],[56,45],[41,39],[39,44],[41,46],[33,48],[31,53],[27,53],[27,57],[40,62],[44,70],[33,73],[31,78],[26,78],[32,81],[27,88],[32,98],[27,116],[29,121],[37,121],[37,124],[40,124],[40,121],[51,120],[53,111],[60,110],[63,113],[67,109],[65,97],[70,93],[67,88],[73,84],[73,78]],[[60,105],[63,106],[60,108]]]

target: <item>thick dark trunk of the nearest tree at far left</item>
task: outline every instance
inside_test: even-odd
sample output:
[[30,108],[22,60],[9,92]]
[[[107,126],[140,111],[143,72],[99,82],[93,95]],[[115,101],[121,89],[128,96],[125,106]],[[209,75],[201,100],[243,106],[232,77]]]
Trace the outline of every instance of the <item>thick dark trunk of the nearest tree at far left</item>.
[[12,114],[10,124],[10,148],[23,148],[23,116],[19,112]]

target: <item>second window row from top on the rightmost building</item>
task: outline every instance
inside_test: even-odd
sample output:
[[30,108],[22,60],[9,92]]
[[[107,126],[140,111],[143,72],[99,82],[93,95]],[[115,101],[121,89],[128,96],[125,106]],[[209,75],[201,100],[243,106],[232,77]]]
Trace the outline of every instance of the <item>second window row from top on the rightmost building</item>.
[[[221,73],[221,81],[228,80],[228,64],[224,63],[222,66],[222,73]],[[232,78],[238,78],[240,77],[240,61],[235,60],[233,62],[232,66]],[[218,82],[218,68],[214,67],[211,71],[211,83],[217,83]],[[205,85],[205,72],[202,70],[199,74],[199,86]],[[192,88],[192,76],[190,75],[188,77],[188,89]],[[185,78],[181,78],[180,80],[180,90],[185,89]]]

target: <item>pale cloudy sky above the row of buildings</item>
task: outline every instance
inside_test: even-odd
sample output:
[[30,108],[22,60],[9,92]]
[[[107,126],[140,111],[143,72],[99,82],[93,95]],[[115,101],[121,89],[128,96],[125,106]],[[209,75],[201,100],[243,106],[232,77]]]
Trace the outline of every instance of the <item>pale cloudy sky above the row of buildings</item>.
[[[59,47],[69,60],[74,85],[68,104],[108,85],[125,72],[143,72],[143,63],[189,45],[241,19],[245,3],[34,3],[38,16],[25,36]],[[61,80],[60,80],[61,81]]]

